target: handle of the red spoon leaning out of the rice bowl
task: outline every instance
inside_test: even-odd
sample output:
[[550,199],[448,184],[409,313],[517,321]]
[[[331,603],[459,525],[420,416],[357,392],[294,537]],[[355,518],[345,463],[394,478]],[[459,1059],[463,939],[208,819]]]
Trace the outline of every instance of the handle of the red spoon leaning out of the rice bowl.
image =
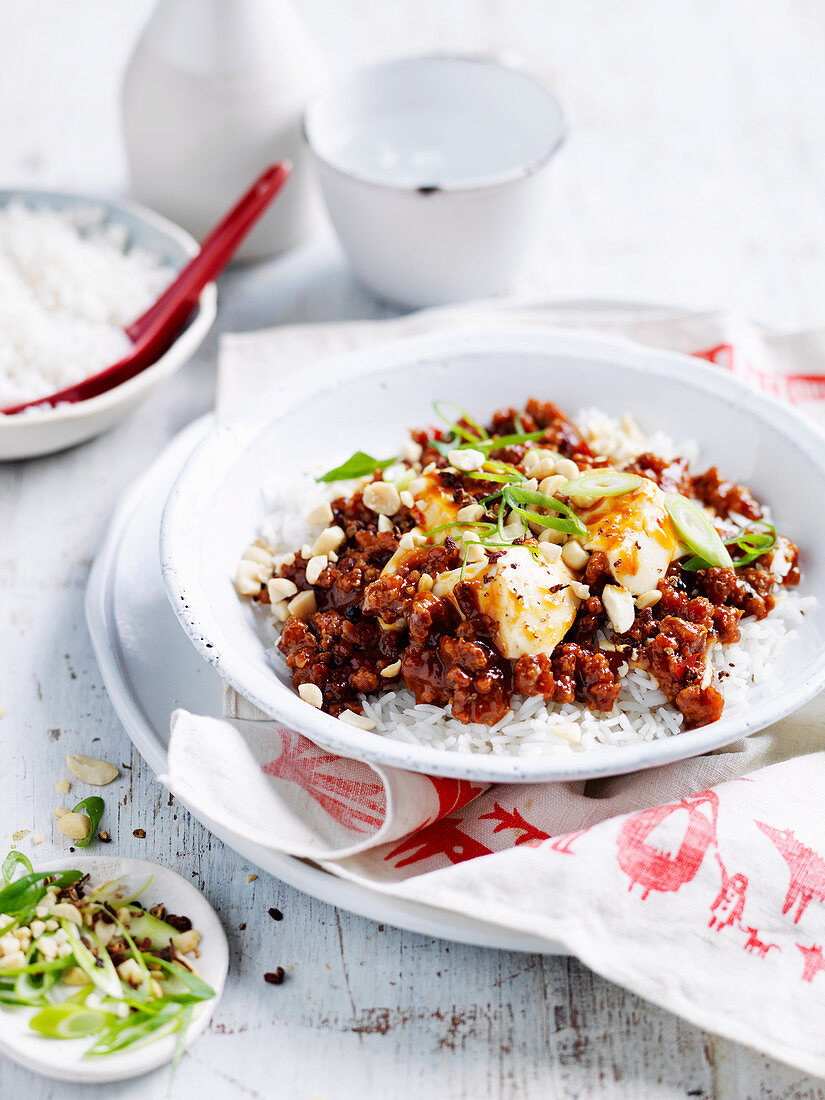
[[144,339],[162,343],[167,327],[172,336],[177,334],[186,319],[184,310],[195,307],[207,283],[226,267],[290,172],[289,162],[283,161],[271,164],[261,173],[246,194],[207,235],[198,255],[189,261],[157,301],[127,328],[127,336],[133,343]]

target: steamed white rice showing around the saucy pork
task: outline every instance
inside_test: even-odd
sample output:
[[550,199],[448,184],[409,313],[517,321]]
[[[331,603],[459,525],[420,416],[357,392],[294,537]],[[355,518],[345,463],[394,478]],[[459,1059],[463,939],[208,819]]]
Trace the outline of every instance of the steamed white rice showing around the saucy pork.
[[[676,444],[662,432],[646,437],[629,417],[617,420],[588,408],[583,409],[575,421],[594,451],[616,462],[628,462],[642,451],[667,459],[682,455],[691,462],[698,457],[694,441]],[[330,494],[329,486],[316,484],[310,476],[297,483],[292,480],[270,484],[264,495],[272,514],[261,525],[261,537],[282,553],[311,542],[315,534],[306,524],[308,513],[317,502],[348,492],[339,484]],[[813,596],[778,590],[777,606],[767,618],[761,622],[741,619],[738,642],[713,647],[708,664],[714,672],[714,684],[725,697],[726,713],[743,704],[755,685],[765,688],[776,678],[774,662],[793,639],[804,613],[815,603]],[[274,619],[272,625],[276,631],[280,629]],[[270,656],[274,666],[282,673],[286,672],[275,646]],[[514,696],[510,711],[495,726],[465,725],[442,707],[416,704],[413,692],[403,685],[395,691],[364,696],[362,703],[364,715],[375,723],[376,733],[451,752],[546,756],[605,746],[622,747],[680,733],[683,716],[668,702],[654,678],[642,669],[627,664],[624,668],[622,693],[608,714],[591,711],[579,703],[548,704],[539,696]]]

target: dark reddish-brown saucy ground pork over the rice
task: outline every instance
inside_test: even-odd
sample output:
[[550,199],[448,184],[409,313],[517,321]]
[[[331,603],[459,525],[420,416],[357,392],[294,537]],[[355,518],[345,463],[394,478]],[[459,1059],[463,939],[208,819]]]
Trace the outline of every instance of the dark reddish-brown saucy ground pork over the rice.
[[[530,400],[520,411],[502,409],[486,430],[491,437],[543,432],[538,440],[491,450],[495,460],[520,465],[530,449],[544,449],[572,460],[582,472],[609,464],[649,479],[664,492],[702,502],[721,519],[734,514],[758,520],[762,515],[750,491],[724,481],[715,468],[693,475],[684,459],[666,461],[651,453],[623,466],[608,463],[592,452],[579,428],[551,403]],[[421,449],[417,470],[435,464],[431,476],[457,506],[475,504],[501,490],[498,483],[450,468],[448,458],[433,447],[449,439],[449,431],[428,428],[413,431],[411,438]],[[381,481],[381,471],[374,477]],[[706,666],[710,648],[737,641],[743,616],[765,618],[774,606],[777,585],[795,585],[800,580],[798,550],[787,539],[781,540],[784,576],[771,572],[778,549],[739,569],[689,572],[676,560],[659,581],[659,595],[652,596],[658,602],[634,606],[632,625],[619,634],[610,629],[602,601],[605,585],[615,583],[610,566],[605,553],[593,550],[576,573],[588,594],[562,640],[549,652],[507,658],[496,641],[496,624],[480,606],[477,580],[459,580],[449,597],[432,591],[440,574],[461,570],[460,544],[442,535],[438,544],[419,544],[396,554],[403,536],[417,524],[420,530],[420,519],[413,507],[402,504],[380,522],[364,503],[366,487],[332,502],[331,522],[343,531],[343,539],[314,584],[307,580],[307,548],[287,556],[275,569],[275,575],[292,581],[299,593],[311,590],[315,595],[317,609],[288,617],[277,645],[296,689],[316,685],[322,708],[332,715],[358,714],[362,694],[402,684],[417,703],[444,707],[463,723],[495,724],[506,715],[514,694],[609,712],[622,690],[623,667],[635,662],[656,678],[683,714],[685,728],[703,726],[723,711],[723,696]],[[494,512],[495,505],[487,508]],[[536,544],[529,531],[526,540],[517,541]],[[734,564],[737,552],[732,548]],[[503,553],[486,551],[491,563]],[[383,573],[394,556],[392,571]],[[270,602],[266,584],[253,598]],[[605,634],[610,641],[605,641]]]

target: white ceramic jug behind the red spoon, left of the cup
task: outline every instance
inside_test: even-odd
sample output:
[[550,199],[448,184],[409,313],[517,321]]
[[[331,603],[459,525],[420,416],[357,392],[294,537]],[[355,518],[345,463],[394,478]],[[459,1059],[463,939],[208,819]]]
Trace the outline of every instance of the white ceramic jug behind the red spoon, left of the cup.
[[287,0],[160,0],[123,82],[133,196],[200,239],[267,163],[288,157],[293,176],[239,257],[297,244],[317,205],[301,114],[324,79]]

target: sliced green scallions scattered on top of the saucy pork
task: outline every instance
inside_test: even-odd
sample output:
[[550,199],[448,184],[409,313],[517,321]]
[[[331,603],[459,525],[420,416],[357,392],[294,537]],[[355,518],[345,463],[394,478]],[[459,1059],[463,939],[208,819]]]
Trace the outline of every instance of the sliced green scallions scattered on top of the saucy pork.
[[[451,419],[443,411],[444,406],[450,406],[459,414],[458,419]],[[464,469],[468,463],[455,458],[460,463],[457,470],[468,477],[492,482],[502,488],[479,501],[479,504],[487,510],[490,519],[441,524],[424,532],[428,538],[448,529],[455,529],[462,531],[465,547],[472,542],[481,543],[490,550],[513,546],[514,539],[508,537],[505,524],[505,517],[510,514],[519,516],[532,527],[550,528],[572,538],[583,538],[586,537],[587,529],[574,508],[587,508],[605,497],[632,493],[642,482],[637,474],[617,470],[592,470],[559,485],[552,496],[538,492],[527,484],[530,479],[521,470],[512,463],[492,459],[490,454],[505,447],[537,442],[544,435],[543,429],[492,437],[460,406],[451,402],[435,402],[432,407],[449,431],[447,439],[430,440],[429,446],[451,462],[453,461],[451,455],[455,457],[457,452],[473,452],[474,460],[477,461],[476,468]],[[562,455],[558,458],[561,459]],[[414,469],[399,465],[400,462],[398,455],[391,459],[374,459],[364,451],[356,451],[346,462],[327,471],[317,481],[350,481],[371,477],[376,471],[383,471],[384,477],[391,480],[400,491],[418,476]],[[741,569],[768,553],[777,544],[776,527],[763,521],[746,524],[723,539],[706,512],[681,493],[667,493],[666,507],[685,549],[691,554],[682,561],[682,568],[690,572],[714,566]],[[739,551],[735,559],[732,558],[728,547]],[[534,547],[528,546],[528,549],[536,554],[539,553]]]

